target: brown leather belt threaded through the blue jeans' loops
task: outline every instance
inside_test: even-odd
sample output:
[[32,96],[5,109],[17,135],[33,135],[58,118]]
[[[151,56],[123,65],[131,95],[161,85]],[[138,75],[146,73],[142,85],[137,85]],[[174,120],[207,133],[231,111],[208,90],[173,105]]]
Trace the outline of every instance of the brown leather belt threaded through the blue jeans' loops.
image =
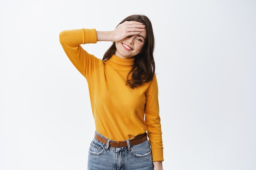
[[[108,144],[108,139],[105,139],[95,133],[94,138],[97,139],[99,142],[102,142],[104,144]],[[145,142],[148,139],[147,133],[141,134],[136,136],[133,139],[129,139],[130,146],[141,144],[142,142]],[[126,141],[110,141],[110,147],[127,147]]]

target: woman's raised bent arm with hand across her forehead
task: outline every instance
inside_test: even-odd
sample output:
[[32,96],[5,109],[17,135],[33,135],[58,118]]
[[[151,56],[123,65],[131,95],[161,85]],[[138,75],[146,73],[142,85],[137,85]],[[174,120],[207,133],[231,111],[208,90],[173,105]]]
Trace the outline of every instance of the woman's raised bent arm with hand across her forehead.
[[[92,74],[94,68],[97,68],[101,61],[83,50],[80,44],[97,43],[97,41],[121,41],[130,35],[137,35],[144,31],[144,27],[140,22],[126,21],[119,24],[113,31],[96,31],[95,29],[62,31],[59,39],[67,57],[86,77]],[[90,67],[87,67],[88,65]]]

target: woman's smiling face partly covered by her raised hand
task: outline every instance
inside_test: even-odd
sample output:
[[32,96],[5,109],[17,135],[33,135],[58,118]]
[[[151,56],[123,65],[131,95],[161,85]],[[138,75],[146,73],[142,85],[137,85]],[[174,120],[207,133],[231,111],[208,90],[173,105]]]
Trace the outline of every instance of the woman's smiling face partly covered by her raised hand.
[[120,58],[130,59],[143,51],[143,46],[146,41],[146,31],[139,35],[126,37],[122,41],[116,42],[115,55]]

